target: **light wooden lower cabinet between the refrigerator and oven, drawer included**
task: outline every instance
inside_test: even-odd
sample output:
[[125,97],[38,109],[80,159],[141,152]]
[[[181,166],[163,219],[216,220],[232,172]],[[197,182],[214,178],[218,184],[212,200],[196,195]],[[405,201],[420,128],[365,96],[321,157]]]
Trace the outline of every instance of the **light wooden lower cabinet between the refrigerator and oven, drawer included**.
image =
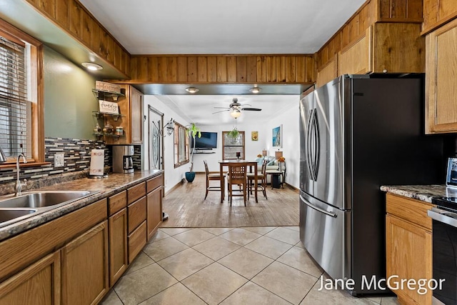
[[[430,209],[431,205],[423,203],[423,206],[420,207],[418,206],[420,204],[421,201],[400,196],[388,195],[387,197],[386,266],[387,277],[398,276],[393,278],[393,284],[402,279],[416,279],[417,281],[433,277],[431,219],[429,219],[430,227],[428,227],[428,219],[417,214],[418,212],[426,214],[426,209]],[[399,209],[400,206],[401,209]],[[402,214],[405,218],[398,214]],[[416,218],[414,215],[418,217]],[[418,219],[418,223],[416,223],[416,219]],[[424,220],[427,222],[424,223]],[[408,289],[406,284],[403,286],[403,289],[393,291],[398,296],[400,304],[431,304],[431,289],[428,289],[426,294],[418,294],[417,290]]]

